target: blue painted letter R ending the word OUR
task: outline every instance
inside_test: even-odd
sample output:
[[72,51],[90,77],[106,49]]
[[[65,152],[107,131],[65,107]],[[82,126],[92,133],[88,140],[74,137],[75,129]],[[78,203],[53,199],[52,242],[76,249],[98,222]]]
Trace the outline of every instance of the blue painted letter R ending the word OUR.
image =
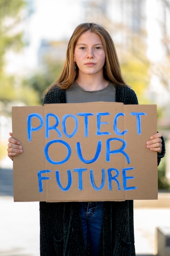
[[[119,149],[111,150],[110,151],[110,141],[121,141],[123,145]],[[130,158],[126,152],[124,152],[124,149],[126,148],[126,141],[120,138],[110,138],[106,140],[106,161],[110,162],[110,154],[118,154],[121,153],[126,157],[127,163],[130,164]]]

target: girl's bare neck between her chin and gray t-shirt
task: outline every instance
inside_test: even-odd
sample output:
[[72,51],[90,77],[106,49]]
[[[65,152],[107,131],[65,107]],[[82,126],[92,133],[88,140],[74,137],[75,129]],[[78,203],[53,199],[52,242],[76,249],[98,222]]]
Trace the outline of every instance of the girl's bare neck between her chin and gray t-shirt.
[[102,90],[104,88],[106,88],[106,86],[108,85],[108,81],[106,79],[104,79],[104,77],[100,77],[100,76],[89,76],[89,75],[85,75],[85,76],[78,76],[76,79],[76,82],[78,83],[78,85],[85,91],[97,91],[97,90]]

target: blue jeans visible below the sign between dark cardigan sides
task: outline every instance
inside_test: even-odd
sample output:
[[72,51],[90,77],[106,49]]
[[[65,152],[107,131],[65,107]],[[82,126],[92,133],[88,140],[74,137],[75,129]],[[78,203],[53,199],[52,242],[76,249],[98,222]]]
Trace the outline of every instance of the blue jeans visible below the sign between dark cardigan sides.
[[79,211],[82,217],[85,244],[87,245],[88,241],[91,256],[98,256],[104,202],[80,202]]

